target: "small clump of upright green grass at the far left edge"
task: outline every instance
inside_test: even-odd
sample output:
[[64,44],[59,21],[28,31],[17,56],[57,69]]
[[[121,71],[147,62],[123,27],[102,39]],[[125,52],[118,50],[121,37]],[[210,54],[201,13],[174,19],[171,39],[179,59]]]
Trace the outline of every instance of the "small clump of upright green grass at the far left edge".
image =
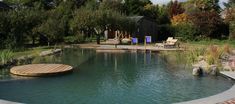
[[0,51],[0,64],[6,64],[13,58],[13,52],[11,50]]

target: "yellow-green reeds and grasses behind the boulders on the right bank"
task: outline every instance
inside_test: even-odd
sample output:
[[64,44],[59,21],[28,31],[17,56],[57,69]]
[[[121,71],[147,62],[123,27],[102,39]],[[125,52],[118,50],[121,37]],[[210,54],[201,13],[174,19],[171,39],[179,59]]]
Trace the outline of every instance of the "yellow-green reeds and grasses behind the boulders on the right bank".
[[160,56],[168,62],[168,64],[183,64],[192,66],[197,64],[199,61],[204,60],[208,63],[206,66],[210,71],[210,65],[216,65],[218,69],[222,69],[222,57],[231,53],[231,47],[228,44],[223,46],[219,45],[208,45],[200,47],[190,47],[186,51],[179,52],[161,52]]

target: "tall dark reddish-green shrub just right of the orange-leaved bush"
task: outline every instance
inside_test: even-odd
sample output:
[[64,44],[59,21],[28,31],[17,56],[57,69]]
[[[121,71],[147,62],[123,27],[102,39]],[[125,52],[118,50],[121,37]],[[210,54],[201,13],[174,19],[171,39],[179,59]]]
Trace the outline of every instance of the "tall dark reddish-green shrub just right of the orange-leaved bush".
[[220,16],[218,0],[189,0],[185,3],[186,14],[196,27],[199,39],[222,38],[227,28]]

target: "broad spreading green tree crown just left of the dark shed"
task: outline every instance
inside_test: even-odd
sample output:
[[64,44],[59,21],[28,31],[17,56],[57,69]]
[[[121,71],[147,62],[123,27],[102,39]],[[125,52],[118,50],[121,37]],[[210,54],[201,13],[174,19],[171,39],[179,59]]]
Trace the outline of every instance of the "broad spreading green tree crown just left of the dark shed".
[[[87,4],[88,5],[88,4]],[[74,19],[70,21],[74,34],[100,35],[106,29],[123,30],[132,32],[135,28],[134,21],[121,13],[113,10],[87,9],[87,6],[75,11]]]

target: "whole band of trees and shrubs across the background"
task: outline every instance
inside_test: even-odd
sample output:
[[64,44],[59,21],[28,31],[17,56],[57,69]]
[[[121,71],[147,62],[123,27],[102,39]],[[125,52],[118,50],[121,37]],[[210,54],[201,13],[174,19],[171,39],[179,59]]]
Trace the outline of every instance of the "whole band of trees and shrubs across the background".
[[159,36],[185,40],[234,38],[234,0],[226,4],[225,18],[218,0],[189,0],[153,5],[150,0],[3,0],[0,10],[0,48],[25,44],[79,43],[100,37],[105,29],[132,33],[129,16],[143,15],[158,25]]

